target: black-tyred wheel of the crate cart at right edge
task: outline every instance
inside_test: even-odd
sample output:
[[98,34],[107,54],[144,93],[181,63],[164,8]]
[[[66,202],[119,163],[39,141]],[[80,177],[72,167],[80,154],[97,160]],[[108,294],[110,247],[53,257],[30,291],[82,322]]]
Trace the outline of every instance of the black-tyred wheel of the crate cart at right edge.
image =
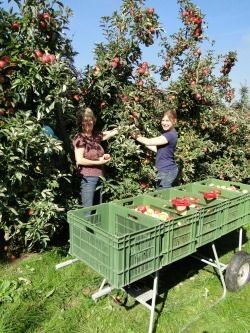
[[237,252],[230,260],[225,274],[226,287],[230,291],[241,289],[250,280],[250,254]]

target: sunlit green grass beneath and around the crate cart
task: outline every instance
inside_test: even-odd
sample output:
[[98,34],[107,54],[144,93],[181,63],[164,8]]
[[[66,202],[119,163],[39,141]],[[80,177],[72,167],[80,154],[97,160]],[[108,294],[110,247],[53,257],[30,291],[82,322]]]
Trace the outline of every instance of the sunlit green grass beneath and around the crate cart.
[[[249,238],[250,227],[243,247],[250,253]],[[216,242],[222,262],[228,263],[237,240],[234,232]],[[149,311],[134,299],[126,307],[110,295],[92,301],[102,278],[82,262],[56,271],[55,265],[67,259],[67,248],[61,247],[0,264],[1,333],[148,331]],[[187,257],[166,266],[160,271],[156,333],[249,333],[250,284],[218,302],[222,291],[213,268],[200,261]]]

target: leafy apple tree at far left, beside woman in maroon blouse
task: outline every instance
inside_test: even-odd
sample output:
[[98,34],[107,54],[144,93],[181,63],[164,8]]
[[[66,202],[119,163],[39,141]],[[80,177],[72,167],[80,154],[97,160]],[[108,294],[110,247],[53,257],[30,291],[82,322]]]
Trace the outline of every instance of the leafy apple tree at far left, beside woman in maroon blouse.
[[46,246],[76,203],[69,137],[81,98],[65,34],[71,10],[13,5],[0,8],[0,230],[9,252]]

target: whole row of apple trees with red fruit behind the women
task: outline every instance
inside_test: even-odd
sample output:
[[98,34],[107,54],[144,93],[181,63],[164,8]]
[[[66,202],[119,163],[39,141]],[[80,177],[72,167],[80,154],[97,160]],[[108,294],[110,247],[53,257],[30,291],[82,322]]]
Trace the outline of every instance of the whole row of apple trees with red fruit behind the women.
[[[60,1],[14,2],[18,12],[0,9],[2,250],[43,248],[65,233],[66,212],[79,204],[70,141],[85,106],[100,129],[119,128],[105,146],[106,201],[154,188],[154,156],[130,134],[157,135],[167,108],[178,114],[179,183],[210,176],[249,183],[248,92],[232,103],[230,86],[237,54],[215,55],[212,44],[201,53],[206,22],[194,3],[177,1],[180,29],[167,36],[154,9],[124,0],[102,18],[106,42],[95,46],[96,65],[81,72],[65,34],[71,10]],[[155,44],[161,66],[143,56]]]

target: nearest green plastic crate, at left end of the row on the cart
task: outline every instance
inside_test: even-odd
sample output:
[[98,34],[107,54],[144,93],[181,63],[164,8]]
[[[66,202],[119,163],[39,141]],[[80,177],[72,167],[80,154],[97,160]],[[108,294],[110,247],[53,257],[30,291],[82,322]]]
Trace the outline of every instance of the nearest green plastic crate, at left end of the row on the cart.
[[[68,212],[70,254],[121,288],[161,268],[168,226],[113,203]],[[151,227],[149,227],[151,225]]]

